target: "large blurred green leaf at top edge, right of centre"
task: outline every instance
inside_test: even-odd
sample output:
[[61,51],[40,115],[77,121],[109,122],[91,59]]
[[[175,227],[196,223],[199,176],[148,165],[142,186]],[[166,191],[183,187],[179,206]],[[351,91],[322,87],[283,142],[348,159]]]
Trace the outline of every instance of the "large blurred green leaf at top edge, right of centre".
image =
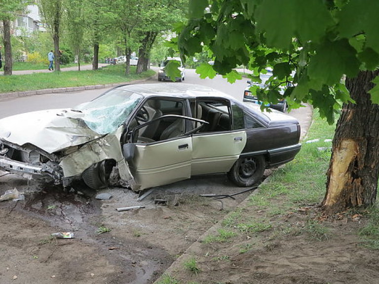
[[257,28],[268,46],[289,49],[294,37],[319,42],[333,20],[320,0],[265,0],[256,11]]

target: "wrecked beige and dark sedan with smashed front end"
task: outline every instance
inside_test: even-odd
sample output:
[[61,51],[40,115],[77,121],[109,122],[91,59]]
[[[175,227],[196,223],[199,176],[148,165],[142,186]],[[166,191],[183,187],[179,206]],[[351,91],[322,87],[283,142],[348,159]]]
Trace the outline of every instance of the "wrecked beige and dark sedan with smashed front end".
[[299,122],[191,84],[124,85],[67,109],[0,120],[0,170],[93,189],[135,191],[227,173],[238,186],[294,159]]

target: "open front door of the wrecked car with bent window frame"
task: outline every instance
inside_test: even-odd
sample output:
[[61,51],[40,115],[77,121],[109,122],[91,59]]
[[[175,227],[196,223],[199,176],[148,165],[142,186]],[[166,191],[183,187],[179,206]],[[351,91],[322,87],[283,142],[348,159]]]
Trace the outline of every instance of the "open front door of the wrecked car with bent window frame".
[[[188,120],[205,123],[205,121],[194,119],[182,115],[163,115],[157,120],[167,118],[176,118],[173,124],[178,127],[169,126],[162,132],[163,140],[139,140],[135,134],[139,129],[146,128],[148,124],[155,121],[141,124],[131,131],[131,141],[135,141],[133,157],[129,158],[131,173],[139,185],[139,190],[145,188],[169,184],[175,181],[190,178],[191,161],[192,161],[192,137],[191,134],[196,131],[192,129],[183,133],[178,131],[179,128],[185,129],[185,123]],[[133,138],[134,135],[134,138]]]

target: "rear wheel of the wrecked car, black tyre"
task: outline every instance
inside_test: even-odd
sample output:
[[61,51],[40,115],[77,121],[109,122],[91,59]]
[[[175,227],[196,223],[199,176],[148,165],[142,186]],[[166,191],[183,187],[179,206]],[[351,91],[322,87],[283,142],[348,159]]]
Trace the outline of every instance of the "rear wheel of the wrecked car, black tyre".
[[265,168],[264,156],[243,157],[234,163],[227,177],[238,186],[248,187],[262,181]]

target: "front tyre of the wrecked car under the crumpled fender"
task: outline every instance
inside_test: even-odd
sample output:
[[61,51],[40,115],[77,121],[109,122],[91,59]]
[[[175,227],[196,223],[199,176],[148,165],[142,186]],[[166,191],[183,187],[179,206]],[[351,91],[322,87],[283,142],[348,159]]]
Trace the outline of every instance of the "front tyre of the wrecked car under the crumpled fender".
[[92,189],[105,188],[108,186],[108,180],[114,165],[114,161],[102,161],[86,169],[81,177],[84,183]]

